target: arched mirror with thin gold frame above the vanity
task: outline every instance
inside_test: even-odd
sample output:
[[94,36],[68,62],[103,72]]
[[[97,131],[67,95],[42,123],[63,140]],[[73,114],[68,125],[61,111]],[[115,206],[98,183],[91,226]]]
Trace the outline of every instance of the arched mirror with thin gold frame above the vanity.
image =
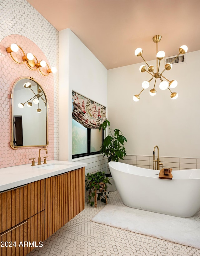
[[47,96],[31,77],[21,77],[11,89],[11,142],[13,149],[47,147]]

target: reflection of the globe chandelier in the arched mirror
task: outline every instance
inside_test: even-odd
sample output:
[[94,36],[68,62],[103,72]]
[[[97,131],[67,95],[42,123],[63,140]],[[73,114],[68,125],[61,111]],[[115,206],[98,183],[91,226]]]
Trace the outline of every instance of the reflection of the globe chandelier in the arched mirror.
[[37,94],[36,94],[32,90],[30,82],[24,83],[23,87],[29,89],[30,91],[32,91],[34,96],[32,98],[30,98],[29,100],[27,100],[26,102],[24,102],[24,103],[18,103],[18,107],[19,108],[24,108],[24,104],[25,103],[27,103],[27,107],[32,107],[32,102],[33,102],[34,104],[38,104],[37,113],[41,113],[42,110],[39,107],[39,99],[42,99],[42,101],[45,103],[45,107],[46,107],[46,98],[43,99],[43,97],[42,97],[42,96],[45,97],[44,92],[39,88],[39,85],[37,84]]

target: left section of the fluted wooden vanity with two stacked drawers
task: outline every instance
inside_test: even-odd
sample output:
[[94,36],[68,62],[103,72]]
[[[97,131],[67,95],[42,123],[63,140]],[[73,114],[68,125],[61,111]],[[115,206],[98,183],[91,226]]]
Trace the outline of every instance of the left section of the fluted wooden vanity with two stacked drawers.
[[0,255],[21,256],[44,240],[45,180],[38,180],[0,194]]

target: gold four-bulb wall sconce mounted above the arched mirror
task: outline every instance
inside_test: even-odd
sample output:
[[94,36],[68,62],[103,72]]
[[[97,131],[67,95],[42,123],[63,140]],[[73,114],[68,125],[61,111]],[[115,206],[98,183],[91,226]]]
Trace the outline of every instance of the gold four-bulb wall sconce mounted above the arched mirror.
[[[12,54],[13,52],[18,52],[19,49],[22,51],[22,54],[23,54],[21,61],[16,60]],[[6,48],[6,51],[11,55],[12,59],[15,62],[17,62],[18,64],[26,63],[31,70],[38,69],[43,76],[48,76],[50,73],[56,73],[57,71],[56,67],[49,68],[49,65],[46,63],[46,61],[44,60],[38,61],[36,56],[33,55],[32,53],[29,52],[25,54],[22,48],[17,44],[11,44],[9,47]],[[44,68],[44,67],[47,67],[46,73],[44,73],[44,71],[41,70],[41,68]]]

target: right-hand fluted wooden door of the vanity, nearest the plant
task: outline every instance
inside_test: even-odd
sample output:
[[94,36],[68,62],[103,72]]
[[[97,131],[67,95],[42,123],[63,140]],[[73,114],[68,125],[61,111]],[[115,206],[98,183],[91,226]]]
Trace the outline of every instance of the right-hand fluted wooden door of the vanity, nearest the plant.
[[85,167],[46,179],[45,239],[84,209]]

